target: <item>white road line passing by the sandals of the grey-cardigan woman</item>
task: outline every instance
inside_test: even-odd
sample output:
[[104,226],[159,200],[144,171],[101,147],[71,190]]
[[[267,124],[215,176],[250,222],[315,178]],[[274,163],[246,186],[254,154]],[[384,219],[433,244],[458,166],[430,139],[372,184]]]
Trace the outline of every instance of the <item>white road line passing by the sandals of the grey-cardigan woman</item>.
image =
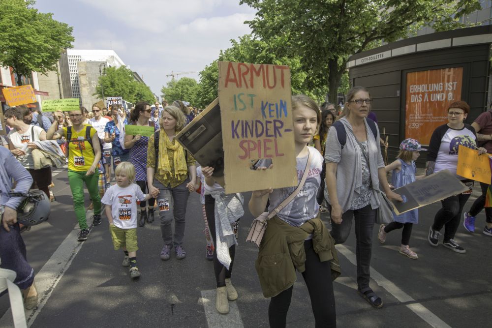
[[[337,245],[337,250],[344,257],[347,258],[354,266],[357,266],[357,260],[354,253],[352,253],[347,247],[343,245]],[[392,283],[390,280],[386,279],[381,273],[377,272],[374,268],[370,268],[370,277],[374,280],[379,286],[383,287],[393,295],[400,302],[414,302],[415,299],[410,295],[403,292],[397,285]],[[407,308],[409,308],[413,313],[422,318],[425,322],[427,322],[431,327],[439,327],[439,328],[451,328],[444,321],[439,319],[435,314],[433,314],[428,308],[426,308],[421,303],[412,303],[407,304]]]

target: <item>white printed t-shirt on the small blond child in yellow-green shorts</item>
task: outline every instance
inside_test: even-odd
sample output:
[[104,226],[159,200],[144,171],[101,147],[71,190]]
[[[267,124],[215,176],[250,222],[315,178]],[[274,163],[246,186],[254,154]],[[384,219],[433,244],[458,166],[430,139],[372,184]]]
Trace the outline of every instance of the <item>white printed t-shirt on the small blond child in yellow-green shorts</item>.
[[101,203],[111,205],[115,227],[132,229],[137,227],[137,201],[143,201],[145,196],[135,183],[125,188],[114,184],[106,190]]

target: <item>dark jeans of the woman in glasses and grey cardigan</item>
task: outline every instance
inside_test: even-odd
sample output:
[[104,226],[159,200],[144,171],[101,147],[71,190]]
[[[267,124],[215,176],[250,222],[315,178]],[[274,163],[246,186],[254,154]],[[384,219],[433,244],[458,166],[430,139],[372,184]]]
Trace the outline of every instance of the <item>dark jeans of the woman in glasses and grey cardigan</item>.
[[362,209],[347,210],[342,214],[340,224],[332,221],[330,234],[335,239],[335,244],[342,244],[350,235],[352,218],[355,220],[355,255],[357,257],[357,286],[359,290],[369,287],[372,228],[376,219],[376,210],[372,209],[369,204]]

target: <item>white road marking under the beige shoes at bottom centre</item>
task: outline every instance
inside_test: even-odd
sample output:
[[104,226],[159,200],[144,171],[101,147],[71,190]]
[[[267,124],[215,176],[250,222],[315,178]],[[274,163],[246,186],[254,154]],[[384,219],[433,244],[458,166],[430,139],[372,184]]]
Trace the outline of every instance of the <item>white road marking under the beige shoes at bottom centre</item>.
[[209,328],[244,327],[243,320],[241,320],[241,314],[239,313],[239,308],[236,301],[229,301],[228,314],[220,314],[215,309],[216,290],[211,289],[208,291],[201,291],[201,293],[202,297],[198,300],[198,303],[203,304]]

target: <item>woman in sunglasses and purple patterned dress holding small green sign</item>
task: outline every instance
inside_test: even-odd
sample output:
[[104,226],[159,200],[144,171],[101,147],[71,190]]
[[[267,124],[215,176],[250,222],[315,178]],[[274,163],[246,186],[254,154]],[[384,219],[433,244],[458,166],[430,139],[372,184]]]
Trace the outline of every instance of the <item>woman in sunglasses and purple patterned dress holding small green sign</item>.
[[[152,126],[154,132],[156,127],[151,119],[151,106],[149,103],[141,101],[135,104],[135,109],[130,114],[130,124],[137,126]],[[149,144],[149,137],[137,134],[136,136],[125,135],[124,147],[130,149],[130,163],[135,167],[135,183],[138,184],[144,194],[146,190],[149,190],[147,185],[147,146]],[[149,199],[149,213],[147,214],[146,204],[147,202],[140,202],[140,218],[138,219],[138,226],[143,227],[145,222],[154,222],[154,203],[155,198]]]

